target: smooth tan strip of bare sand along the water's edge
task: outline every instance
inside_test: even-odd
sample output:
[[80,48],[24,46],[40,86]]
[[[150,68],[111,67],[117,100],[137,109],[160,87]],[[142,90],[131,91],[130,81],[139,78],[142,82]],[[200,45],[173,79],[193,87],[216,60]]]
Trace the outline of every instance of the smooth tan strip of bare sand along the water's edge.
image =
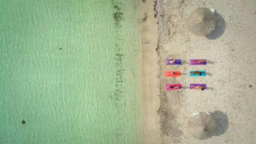
[[143,85],[143,143],[161,143],[159,109],[159,65],[157,64],[157,19],[154,11],[154,1],[142,1],[142,85]]

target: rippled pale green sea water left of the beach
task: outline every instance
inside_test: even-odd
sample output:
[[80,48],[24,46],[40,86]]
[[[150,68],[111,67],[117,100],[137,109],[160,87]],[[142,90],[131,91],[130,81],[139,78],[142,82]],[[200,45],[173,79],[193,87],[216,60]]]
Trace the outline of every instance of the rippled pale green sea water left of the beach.
[[0,143],[141,143],[138,15],[137,0],[0,0]]

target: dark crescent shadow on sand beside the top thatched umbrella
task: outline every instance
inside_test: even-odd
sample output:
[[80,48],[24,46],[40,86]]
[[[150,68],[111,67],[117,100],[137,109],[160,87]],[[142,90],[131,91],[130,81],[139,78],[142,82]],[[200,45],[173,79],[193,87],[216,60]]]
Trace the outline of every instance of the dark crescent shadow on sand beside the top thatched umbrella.
[[219,13],[217,13],[216,10],[214,15],[216,16],[216,20],[217,20],[215,30],[213,30],[210,34],[205,36],[206,38],[212,39],[212,40],[222,36],[226,28],[226,22],[224,18]]

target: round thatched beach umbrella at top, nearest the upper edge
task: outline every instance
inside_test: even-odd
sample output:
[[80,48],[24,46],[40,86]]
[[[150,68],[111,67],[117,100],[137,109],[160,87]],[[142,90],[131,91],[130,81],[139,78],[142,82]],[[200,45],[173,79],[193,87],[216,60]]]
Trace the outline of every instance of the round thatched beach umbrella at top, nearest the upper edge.
[[205,7],[196,8],[187,20],[188,30],[196,36],[210,34],[216,25],[216,17]]

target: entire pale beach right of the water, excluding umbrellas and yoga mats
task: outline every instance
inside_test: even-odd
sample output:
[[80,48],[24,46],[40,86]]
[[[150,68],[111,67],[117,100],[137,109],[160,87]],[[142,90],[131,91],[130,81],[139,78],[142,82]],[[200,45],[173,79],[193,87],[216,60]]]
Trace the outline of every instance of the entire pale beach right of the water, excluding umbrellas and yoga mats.
[[[142,19],[144,143],[256,143],[256,1],[156,0],[157,14],[154,4],[141,2],[142,18],[147,17]],[[217,24],[207,36],[186,28],[197,7],[215,9]],[[182,65],[167,66],[166,59],[181,59]],[[194,66],[190,59],[211,62]],[[206,70],[206,76],[191,77],[190,70]],[[181,77],[165,77],[165,71],[181,71]],[[190,90],[191,83],[209,89]],[[166,91],[166,84],[182,89]],[[212,138],[189,135],[194,111],[215,118]]]

